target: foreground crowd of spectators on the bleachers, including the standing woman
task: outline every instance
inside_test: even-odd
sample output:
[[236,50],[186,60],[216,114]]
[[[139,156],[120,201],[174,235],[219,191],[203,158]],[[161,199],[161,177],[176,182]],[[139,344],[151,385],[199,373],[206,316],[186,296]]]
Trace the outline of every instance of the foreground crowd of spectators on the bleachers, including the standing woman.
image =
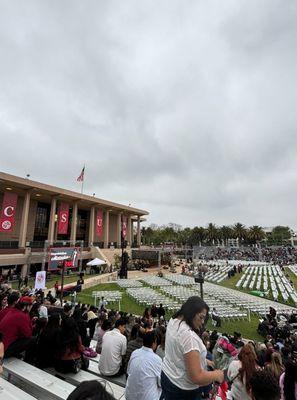
[[[17,356],[42,369],[77,373],[100,354],[102,377],[126,377],[127,400],[224,399],[227,393],[232,400],[297,398],[296,337],[269,331],[258,345],[239,332],[210,332],[205,325],[211,311],[197,296],[169,321],[161,304],[142,316],[108,310],[104,298],[98,308],[68,302],[60,307],[51,292],[32,295],[6,285],[0,308],[1,371],[5,358]],[[272,324],[273,310],[267,318]],[[113,397],[99,382],[84,382],[69,396],[82,399]]]

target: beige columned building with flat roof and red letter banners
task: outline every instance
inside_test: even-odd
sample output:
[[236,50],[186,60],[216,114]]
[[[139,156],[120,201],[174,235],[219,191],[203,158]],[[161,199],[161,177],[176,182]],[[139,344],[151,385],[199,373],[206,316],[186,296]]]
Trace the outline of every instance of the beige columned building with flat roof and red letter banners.
[[2,172],[0,208],[0,267],[42,263],[44,249],[55,245],[81,246],[83,259],[89,259],[94,247],[121,247],[123,233],[125,246],[140,246],[141,220],[148,215],[145,210]]

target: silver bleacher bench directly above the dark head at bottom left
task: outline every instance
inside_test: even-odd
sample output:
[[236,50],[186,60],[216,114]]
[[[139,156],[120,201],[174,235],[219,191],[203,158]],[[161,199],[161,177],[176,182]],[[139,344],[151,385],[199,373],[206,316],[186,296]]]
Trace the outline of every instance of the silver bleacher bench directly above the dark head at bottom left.
[[[97,366],[97,372],[98,371],[98,364],[94,363]],[[92,381],[92,380],[97,380],[102,385],[105,387],[105,389],[114,396],[115,399],[125,399],[125,389],[121,386],[118,386],[114,382],[110,382],[107,379],[99,376],[98,374],[93,374],[91,370],[88,371],[83,371],[80,370],[76,374],[74,373],[61,373],[57,372],[53,368],[47,368],[46,371],[58,378],[65,379],[67,382],[71,383],[74,386],[78,386],[81,382],[84,381]]]

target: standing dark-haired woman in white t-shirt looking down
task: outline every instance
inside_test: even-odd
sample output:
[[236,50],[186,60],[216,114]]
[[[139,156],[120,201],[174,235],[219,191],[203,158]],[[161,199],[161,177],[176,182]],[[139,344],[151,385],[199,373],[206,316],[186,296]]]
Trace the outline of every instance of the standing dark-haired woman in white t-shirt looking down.
[[199,331],[208,310],[200,297],[192,296],[169,321],[161,374],[161,399],[199,400],[199,386],[224,380],[223,371],[206,370],[207,351]]

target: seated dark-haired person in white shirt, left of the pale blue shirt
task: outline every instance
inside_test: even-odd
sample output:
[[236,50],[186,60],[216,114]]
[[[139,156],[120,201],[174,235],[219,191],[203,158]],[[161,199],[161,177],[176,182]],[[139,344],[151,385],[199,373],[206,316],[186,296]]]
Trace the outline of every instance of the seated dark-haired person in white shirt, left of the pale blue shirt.
[[124,373],[123,356],[127,350],[127,338],[124,336],[126,320],[115,322],[112,331],[103,336],[102,351],[98,364],[99,371],[106,376],[119,376]]

